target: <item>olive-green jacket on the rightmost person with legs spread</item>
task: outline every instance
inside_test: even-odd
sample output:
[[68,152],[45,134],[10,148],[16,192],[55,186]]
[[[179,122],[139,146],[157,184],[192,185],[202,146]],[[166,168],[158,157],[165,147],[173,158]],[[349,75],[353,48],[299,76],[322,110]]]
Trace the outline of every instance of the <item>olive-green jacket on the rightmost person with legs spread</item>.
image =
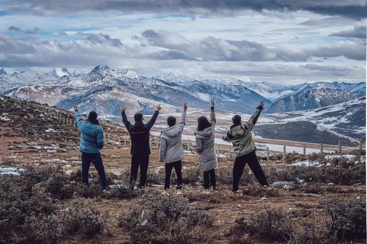
[[251,131],[260,116],[262,107],[257,107],[250,119],[240,125],[232,125],[230,130],[224,134],[222,139],[233,144],[236,157],[240,157],[256,150],[255,142],[252,139]]

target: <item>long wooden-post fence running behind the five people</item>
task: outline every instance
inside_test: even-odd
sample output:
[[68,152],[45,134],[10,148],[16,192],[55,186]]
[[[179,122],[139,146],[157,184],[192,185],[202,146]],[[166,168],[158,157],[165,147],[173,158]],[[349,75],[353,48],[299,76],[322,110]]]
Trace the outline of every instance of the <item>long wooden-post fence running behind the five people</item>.
[[[24,98],[17,99],[17,97],[9,97],[9,96],[4,96],[4,95],[1,95],[1,97],[4,100],[12,99],[12,100],[20,101],[22,105],[31,104],[35,106],[36,108],[38,108],[40,111],[45,112],[45,114],[48,114],[53,118],[56,118],[61,123],[75,127],[75,128],[77,127],[75,118],[71,118],[69,114],[65,113],[61,109],[49,107],[46,104],[41,104],[39,102],[35,102],[35,101],[24,99]],[[130,139],[130,136],[127,136],[127,135],[120,136],[120,135],[108,133],[106,136],[106,133],[104,133],[104,140],[107,141],[107,143],[123,145],[124,147],[127,147],[127,146],[131,147],[131,140],[129,139]],[[187,140],[183,139],[182,141],[187,151],[193,151],[192,149],[195,147],[195,144],[190,142],[190,139],[187,139]],[[149,143],[150,143],[151,148],[153,148],[154,144],[156,148],[159,148],[160,147],[160,137],[151,136]],[[219,157],[220,151],[222,151],[224,155],[227,155],[229,159],[232,158],[232,147],[231,146],[215,144],[214,147],[215,147],[217,157]],[[221,148],[223,147],[227,147],[227,149],[222,150]],[[338,147],[339,147],[338,152],[342,153],[342,142],[341,141],[338,141]],[[267,160],[269,160],[270,151],[269,151],[269,147],[266,146],[266,143],[256,142],[256,148],[259,150],[264,150],[266,158]],[[361,150],[363,149],[363,141],[360,141],[360,149]],[[320,144],[320,153],[324,153],[324,144],[322,143]],[[306,155],[306,144],[303,144],[303,154]],[[285,159],[286,156],[287,156],[286,146],[283,146],[283,159]]]

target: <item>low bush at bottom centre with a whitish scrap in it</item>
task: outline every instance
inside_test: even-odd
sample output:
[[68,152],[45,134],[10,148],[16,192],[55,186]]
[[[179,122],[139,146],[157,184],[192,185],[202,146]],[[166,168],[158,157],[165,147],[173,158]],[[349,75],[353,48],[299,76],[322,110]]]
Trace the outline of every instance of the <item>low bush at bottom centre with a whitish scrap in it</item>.
[[136,207],[119,216],[132,243],[197,243],[206,241],[205,228],[213,219],[191,209],[187,200],[157,193],[143,195]]

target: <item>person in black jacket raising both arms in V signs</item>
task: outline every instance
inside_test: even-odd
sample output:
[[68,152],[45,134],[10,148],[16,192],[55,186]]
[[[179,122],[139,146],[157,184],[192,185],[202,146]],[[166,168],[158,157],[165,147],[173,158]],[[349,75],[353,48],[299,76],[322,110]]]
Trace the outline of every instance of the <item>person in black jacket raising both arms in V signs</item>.
[[151,120],[147,124],[144,124],[143,114],[137,113],[134,115],[135,124],[132,125],[126,116],[126,107],[121,108],[122,122],[126,126],[131,138],[131,174],[130,174],[130,189],[134,189],[135,181],[138,175],[140,166],[140,188],[145,186],[147,181],[147,171],[149,163],[149,155],[151,149],[149,145],[149,131],[152,129],[159,111],[161,110],[161,104],[157,106]]

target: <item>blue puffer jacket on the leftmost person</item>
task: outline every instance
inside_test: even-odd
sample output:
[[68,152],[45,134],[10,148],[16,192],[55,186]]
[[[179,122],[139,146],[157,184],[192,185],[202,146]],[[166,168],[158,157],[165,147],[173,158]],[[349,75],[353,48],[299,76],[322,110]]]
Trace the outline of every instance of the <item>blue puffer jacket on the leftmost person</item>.
[[75,111],[76,123],[80,131],[80,146],[79,150],[82,153],[100,154],[104,147],[103,129],[98,124],[98,121],[83,120],[82,115],[77,110]]

